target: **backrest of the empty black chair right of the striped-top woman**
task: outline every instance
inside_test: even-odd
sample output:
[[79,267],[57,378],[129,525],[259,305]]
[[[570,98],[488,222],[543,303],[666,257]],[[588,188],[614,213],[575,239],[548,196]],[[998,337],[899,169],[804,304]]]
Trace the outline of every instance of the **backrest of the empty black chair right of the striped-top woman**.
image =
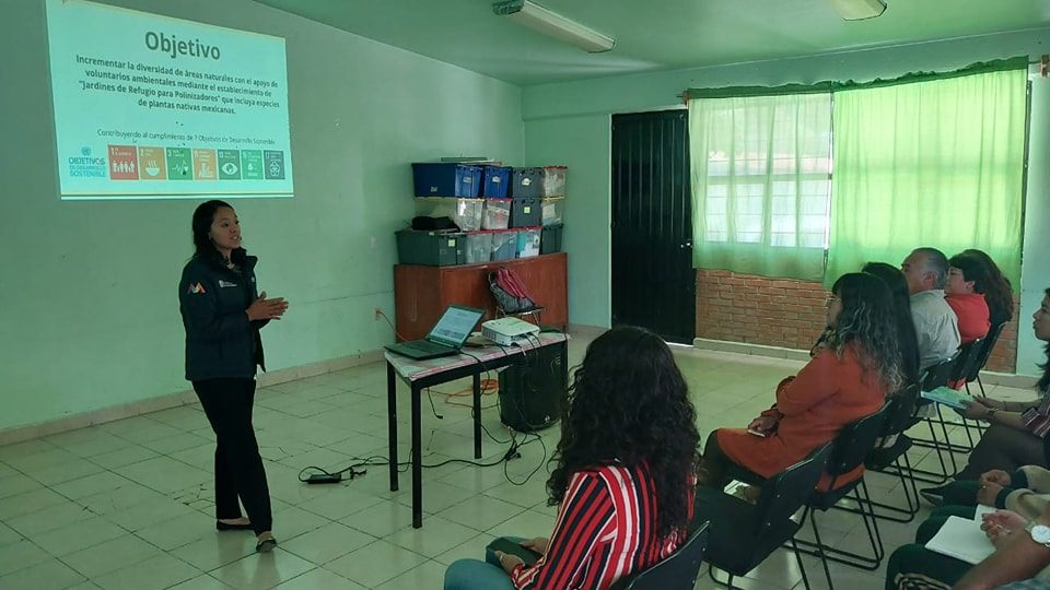
[[762,536],[766,529],[777,528],[783,519],[790,518],[809,502],[824,475],[830,453],[831,442],[827,442],[762,483],[755,508],[765,516],[757,536]]

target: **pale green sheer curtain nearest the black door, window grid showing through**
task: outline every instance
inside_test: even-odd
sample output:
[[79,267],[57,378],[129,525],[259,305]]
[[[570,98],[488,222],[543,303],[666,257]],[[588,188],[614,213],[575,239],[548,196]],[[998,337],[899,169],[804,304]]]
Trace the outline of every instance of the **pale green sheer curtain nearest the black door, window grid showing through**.
[[819,281],[831,95],[689,101],[696,268]]

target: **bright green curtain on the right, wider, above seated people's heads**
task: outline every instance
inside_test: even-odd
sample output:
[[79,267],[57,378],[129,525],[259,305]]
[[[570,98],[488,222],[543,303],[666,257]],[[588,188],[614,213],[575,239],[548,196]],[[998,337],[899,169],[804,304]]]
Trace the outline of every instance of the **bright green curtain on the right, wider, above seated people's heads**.
[[1018,285],[1027,68],[835,97],[825,285],[919,246],[988,252]]

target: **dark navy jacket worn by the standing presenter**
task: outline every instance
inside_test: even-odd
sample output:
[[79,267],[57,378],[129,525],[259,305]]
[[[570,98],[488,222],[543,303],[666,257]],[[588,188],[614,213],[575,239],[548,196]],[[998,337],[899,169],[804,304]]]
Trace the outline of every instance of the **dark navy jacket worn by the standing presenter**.
[[218,258],[194,258],[183,269],[178,307],[186,328],[187,380],[250,379],[256,366],[266,370],[259,329],[267,321],[248,321],[245,312],[258,296],[256,262],[248,256],[236,272]]

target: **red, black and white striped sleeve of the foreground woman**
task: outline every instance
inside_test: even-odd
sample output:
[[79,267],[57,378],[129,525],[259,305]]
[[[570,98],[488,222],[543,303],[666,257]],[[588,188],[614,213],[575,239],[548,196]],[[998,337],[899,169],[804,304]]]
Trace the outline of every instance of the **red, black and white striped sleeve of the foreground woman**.
[[[596,473],[576,472],[558,510],[555,532],[544,555],[532,567],[518,566],[511,581],[520,589],[570,588],[592,557],[602,531],[615,516],[612,497]],[[592,571],[605,564],[594,563]]]

